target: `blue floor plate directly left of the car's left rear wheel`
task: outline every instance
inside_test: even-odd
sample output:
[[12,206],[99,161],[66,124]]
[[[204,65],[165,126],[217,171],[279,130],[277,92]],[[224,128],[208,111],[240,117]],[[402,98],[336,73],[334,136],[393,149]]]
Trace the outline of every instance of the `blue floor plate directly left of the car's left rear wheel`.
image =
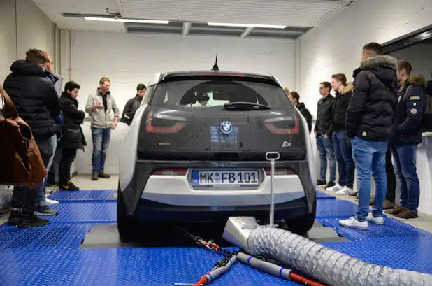
[[52,208],[59,214],[45,217],[50,222],[117,222],[117,201],[61,202]]

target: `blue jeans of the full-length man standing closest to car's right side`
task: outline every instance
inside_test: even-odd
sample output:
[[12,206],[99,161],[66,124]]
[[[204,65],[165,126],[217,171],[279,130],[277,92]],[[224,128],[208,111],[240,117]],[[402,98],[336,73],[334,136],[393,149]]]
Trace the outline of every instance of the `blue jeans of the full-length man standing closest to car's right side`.
[[327,160],[329,160],[330,163],[330,181],[336,180],[336,160],[331,139],[325,138],[324,135],[317,136],[317,148],[319,161],[321,162],[319,180],[326,180]]

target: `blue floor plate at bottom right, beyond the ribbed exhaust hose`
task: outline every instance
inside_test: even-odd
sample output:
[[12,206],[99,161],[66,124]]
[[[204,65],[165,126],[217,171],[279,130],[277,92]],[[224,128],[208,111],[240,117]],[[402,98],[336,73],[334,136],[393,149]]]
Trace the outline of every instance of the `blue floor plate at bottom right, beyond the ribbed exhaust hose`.
[[431,236],[368,238],[363,241],[322,244],[373,264],[432,273]]

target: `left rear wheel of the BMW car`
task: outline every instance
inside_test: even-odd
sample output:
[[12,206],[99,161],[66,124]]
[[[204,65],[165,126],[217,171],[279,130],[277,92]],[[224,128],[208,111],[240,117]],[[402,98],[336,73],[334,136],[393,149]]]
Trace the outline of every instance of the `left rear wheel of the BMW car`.
[[136,238],[135,231],[139,229],[138,219],[127,215],[123,193],[120,192],[120,186],[117,190],[117,229],[122,243],[134,242]]

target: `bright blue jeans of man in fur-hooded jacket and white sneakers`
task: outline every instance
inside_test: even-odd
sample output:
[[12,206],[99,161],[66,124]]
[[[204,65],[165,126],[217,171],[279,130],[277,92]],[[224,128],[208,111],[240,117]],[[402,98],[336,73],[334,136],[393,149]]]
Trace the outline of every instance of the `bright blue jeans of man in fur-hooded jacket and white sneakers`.
[[374,217],[382,216],[382,205],[387,191],[386,152],[387,141],[368,141],[359,137],[352,139],[352,153],[356,162],[357,180],[359,180],[357,220],[361,222],[366,220],[369,213],[371,174],[376,186],[372,214]]

